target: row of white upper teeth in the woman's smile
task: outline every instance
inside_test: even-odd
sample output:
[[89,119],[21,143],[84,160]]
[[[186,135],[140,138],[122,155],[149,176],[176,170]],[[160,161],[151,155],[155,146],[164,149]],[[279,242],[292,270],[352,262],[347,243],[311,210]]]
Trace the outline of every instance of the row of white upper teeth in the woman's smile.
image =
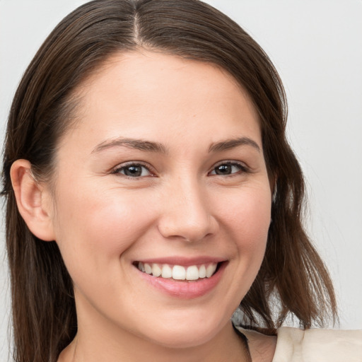
[[176,280],[197,280],[200,278],[210,278],[216,271],[217,263],[190,265],[182,267],[181,265],[156,264],[139,262],[139,270],[153,276],[162,278],[172,278]]

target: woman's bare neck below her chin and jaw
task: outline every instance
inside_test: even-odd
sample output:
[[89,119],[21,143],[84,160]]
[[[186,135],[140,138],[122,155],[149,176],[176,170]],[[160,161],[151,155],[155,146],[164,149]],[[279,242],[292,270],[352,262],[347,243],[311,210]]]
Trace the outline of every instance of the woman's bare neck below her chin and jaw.
[[171,348],[142,339],[134,334],[78,329],[74,341],[62,352],[58,362],[249,362],[250,356],[242,339],[230,323],[218,334],[199,346]]

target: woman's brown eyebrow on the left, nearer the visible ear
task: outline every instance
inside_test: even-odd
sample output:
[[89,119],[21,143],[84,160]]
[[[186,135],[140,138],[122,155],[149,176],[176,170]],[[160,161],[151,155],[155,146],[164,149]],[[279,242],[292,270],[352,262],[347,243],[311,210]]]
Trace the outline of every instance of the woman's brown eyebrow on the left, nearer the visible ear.
[[163,144],[158,142],[146,141],[144,139],[128,139],[128,138],[117,138],[104,141],[98,146],[95,146],[91,153],[100,152],[107,148],[112,147],[127,147],[133,148],[139,151],[151,151],[156,153],[167,153],[167,150]]

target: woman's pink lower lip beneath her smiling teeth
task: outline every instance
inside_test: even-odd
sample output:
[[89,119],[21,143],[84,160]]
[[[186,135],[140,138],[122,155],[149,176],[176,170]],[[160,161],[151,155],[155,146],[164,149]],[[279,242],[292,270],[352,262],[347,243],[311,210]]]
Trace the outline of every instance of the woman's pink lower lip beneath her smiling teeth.
[[222,262],[218,266],[216,273],[210,278],[198,279],[197,281],[175,281],[172,278],[166,279],[160,276],[152,276],[138,269],[136,270],[139,271],[144,280],[160,291],[177,298],[192,299],[204,296],[216,287],[226,268],[226,264],[226,262]]

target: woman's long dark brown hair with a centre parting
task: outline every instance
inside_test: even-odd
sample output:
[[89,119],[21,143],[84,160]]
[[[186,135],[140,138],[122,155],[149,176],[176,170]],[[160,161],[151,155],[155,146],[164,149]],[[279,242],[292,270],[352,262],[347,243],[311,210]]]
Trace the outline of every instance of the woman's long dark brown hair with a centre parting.
[[71,278],[57,244],[35,238],[18,213],[11,164],[25,158],[37,177],[49,180],[57,141],[74,117],[76,88],[115,52],[140,47],[221,66],[259,113],[276,193],[264,261],[240,303],[243,324],[275,332],[288,315],[304,328],[322,325],[329,311],[336,315],[329,275],[303,229],[303,175],[286,141],[284,88],[267,54],[239,25],[201,1],[96,0],[66,16],[47,37],[8,117],[3,194],[16,361],[56,361],[77,325]]

